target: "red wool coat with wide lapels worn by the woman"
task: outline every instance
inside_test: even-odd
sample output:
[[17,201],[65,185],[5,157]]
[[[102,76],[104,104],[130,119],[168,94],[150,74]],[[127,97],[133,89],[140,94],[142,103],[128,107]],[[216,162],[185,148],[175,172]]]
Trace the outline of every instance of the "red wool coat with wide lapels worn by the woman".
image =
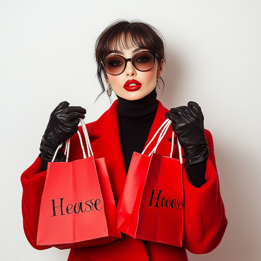
[[[117,106],[118,101],[116,100],[110,109],[97,121],[86,124],[94,158],[105,157],[116,204],[126,179],[119,135]],[[158,101],[155,120],[145,146],[159,126],[165,121],[164,115],[168,111]],[[84,137],[81,127],[79,127],[79,131],[82,137]],[[158,154],[162,156],[169,155],[171,149],[169,139],[171,139],[171,135],[171,128],[169,128],[158,146]],[[224,235],[227,219],[220,195],[212,136],[207,130],[205,130],[205,136],[210,150],[205,174],[207,182],[200,188],[195,188],[188,179],[186,169],[183,169],[184,228],[182,247],[141,241],[122,234],[122,239],[106,245],[74,248],[70,251],[68,261],[186,261],[186,249],[195,254],[204,254],[215,249]],[[150,145],[147,153],[153,149],[154,145]],[[179,158],[176,138],[174,157]],[[80,141],[78,135],[75,134],[70,142],[69,161],[81,158],[83,157]],[[49,248],[36,245],[41,195],[46,177],[46,171],[41,172],[41,165],[42,160],[38,157],[21,176],[24,231],[29,243],[39,250]]]

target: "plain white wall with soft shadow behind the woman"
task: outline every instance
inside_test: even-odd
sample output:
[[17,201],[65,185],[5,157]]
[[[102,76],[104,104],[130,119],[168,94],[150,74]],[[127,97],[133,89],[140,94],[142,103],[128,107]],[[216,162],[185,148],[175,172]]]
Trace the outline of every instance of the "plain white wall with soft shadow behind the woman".
[[112,20],[138,17],[167,43],[165,107],[198,102],[212,132],[228,227],[190,261],[261,259],[261,1],[0,1],[1,260],[67,260],[33,249],[22,227],[20,175],[39,154],[51,111],[67,100],[86,122],[109,108],[95,79],[93,45]]

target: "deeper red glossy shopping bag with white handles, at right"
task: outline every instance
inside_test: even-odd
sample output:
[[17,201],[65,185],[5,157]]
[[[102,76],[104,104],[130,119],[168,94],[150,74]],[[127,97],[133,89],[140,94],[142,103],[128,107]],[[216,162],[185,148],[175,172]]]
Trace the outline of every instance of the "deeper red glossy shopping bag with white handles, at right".
[[[183,236],[183,183],[182,156],[180,159],[160,156],[159,142],[171,122],[166,120],[160,129],[158,142],[149,156],[134,152],[117,205],[117,229],[136,239],[182,246]],[[172,137],[173,153],[174,133]]]

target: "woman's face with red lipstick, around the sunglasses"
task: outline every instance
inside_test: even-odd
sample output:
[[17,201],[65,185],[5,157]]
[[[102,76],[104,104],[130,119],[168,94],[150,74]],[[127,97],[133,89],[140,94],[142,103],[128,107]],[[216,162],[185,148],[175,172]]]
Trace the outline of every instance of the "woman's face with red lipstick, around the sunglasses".
[[[110,54],[119,54],[127,59],[139,51],[148,50],[140,48],[121,49],[114,50]],[[106,73],[106,78],[115,94],[126,100],[139,100],[155,88],[157,77],[161,76],[162,73],[163,63],[162,59],[161,64],[158,66],[157,59],[155,59],[155,65],[151,70],[141,72],[135,69],[132,63],[128,61],[125,70],[121,74],[111,75]],[[131,83],[128,80],[135,80],[137,82],[134,81],[134,83]],[[139,87],[140,85],[141,87]]]

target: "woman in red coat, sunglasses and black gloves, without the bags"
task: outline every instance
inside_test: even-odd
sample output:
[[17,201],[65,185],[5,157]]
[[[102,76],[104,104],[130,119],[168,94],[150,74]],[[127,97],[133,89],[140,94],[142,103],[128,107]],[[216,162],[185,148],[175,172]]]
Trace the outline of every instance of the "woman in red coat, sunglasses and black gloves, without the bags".
[[[95,158],[105,157],[115,203],[121,195],[131,157],[141,153],[159,126],[169,118],[183,148],[186,170],[183,171],[184,224],[183,246],[175,247],[141,241],[122,233],[122,238],[102,246],[74,248],[68,260],[187,260],[186,249],[203,254],[220,243],[227,226],[224,205],[213,151],[213,140],[204,130],[204,117],[199,105],[172,108],[170,111],[156,99],[159,79],[165,61],[161,34],[142,22],[117,21],[108,26],[96,41],[97,75],[107,94],[114,91],[118,99],[97,121],[86,124]],[[155,87],[156,86],[156,87]],[[82,158],[78,130],[79,119],[86,110],[60,103],[51,113],[40,145],[40,155],[21,177],[24,230],[36,249],[41,194],[47,162],[58,145],[71,138],[69,161]],[[82,134],[82,128],[79,127]],[[167,156],[172,131],[168,130],[157,153]],[[174,157],[178,158],[174,144]],[[151,144],[147,151],[151,151]],[[62,151],[56,161],[65,161]]]

